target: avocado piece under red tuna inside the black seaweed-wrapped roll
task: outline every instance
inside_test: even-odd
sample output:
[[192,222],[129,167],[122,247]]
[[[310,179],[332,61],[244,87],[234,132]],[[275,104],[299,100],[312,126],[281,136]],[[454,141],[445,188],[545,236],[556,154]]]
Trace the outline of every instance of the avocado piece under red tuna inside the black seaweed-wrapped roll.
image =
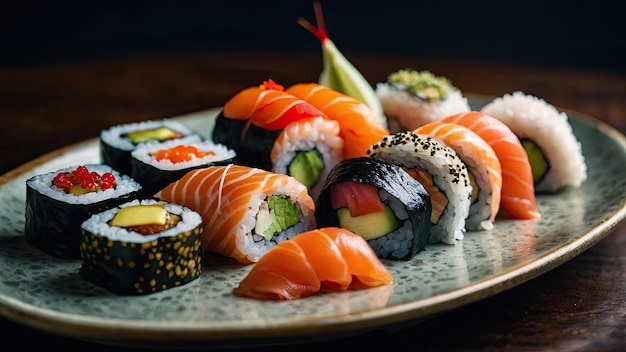
[[352,217],[350,209],[337,209],[339,226],[361,235],[366,240],[384,236],[399,226],[398,219],[390,207],[375,213]]

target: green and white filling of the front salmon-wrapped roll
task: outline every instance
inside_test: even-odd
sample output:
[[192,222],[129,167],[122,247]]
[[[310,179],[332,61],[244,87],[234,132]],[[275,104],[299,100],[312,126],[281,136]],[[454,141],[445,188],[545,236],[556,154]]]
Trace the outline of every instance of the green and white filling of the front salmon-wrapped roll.
[[284,195],[270,196],[261,204],[254,232],[269,241],[298,222],[300,213],[291,199]]

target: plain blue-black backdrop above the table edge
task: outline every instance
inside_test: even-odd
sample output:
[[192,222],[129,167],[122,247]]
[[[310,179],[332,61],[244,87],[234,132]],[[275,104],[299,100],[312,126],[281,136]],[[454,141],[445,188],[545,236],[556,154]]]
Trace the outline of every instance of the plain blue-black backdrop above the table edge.
[[[626,72],[626,1],[322,0],[351,52],[474,58]],[[320,55],[296,23],[310,0],[13,1],[0,5],[0,65],[119,55],[290,50]]]

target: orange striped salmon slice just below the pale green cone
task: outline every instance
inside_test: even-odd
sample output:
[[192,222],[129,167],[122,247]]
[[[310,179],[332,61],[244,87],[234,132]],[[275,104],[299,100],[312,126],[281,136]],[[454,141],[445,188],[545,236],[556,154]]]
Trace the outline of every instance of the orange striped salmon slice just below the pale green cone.
[[344,158],[365,156],[372,144],[389,134],[372,110],[361,101],[318,83],[298,83],[285,90],[309,102],[341,126]]

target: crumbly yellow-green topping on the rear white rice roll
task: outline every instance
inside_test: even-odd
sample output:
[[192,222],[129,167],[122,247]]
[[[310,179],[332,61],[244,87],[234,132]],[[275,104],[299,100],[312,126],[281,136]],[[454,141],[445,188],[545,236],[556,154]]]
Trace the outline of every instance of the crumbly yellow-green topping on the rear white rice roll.
[[424,100],[443,100],[453,88],[450,80],[445,77],[435,76],[430,71],[416,71],[410,68],[390,74],[387,82],[400,89],[406,89]]

